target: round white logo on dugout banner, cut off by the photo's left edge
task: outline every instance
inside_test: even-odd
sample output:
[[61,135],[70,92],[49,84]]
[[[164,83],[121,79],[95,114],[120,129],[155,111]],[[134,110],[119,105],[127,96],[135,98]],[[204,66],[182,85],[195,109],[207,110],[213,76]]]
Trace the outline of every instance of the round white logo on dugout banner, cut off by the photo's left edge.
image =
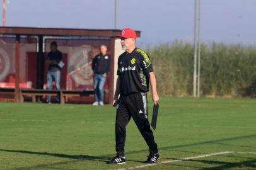
[[0,48],[0,80],[6,77],[10,68],[10,60],[8,54]]

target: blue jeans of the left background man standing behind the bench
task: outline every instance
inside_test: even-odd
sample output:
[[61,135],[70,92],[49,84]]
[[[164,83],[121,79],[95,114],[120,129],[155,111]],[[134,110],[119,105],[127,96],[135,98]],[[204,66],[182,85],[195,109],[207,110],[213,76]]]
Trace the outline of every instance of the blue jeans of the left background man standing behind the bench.
[[[61,71],[47,71],[47,89],[52,89],[52,81],[55,81],[56,89],[61,89],[59,82],[61,81]],[[60,101],[60,96],[56,97]],[[47,96],[47,101],[50,101],[50,96]]]

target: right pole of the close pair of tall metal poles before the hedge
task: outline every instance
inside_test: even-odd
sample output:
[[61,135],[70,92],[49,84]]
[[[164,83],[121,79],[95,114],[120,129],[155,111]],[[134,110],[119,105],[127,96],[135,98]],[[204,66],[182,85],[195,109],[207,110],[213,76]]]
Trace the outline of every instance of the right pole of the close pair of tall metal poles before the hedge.
[[198,65],[197,65],[197,97],[200,97],[200,67],[201,67],[201,0],[198,0]]

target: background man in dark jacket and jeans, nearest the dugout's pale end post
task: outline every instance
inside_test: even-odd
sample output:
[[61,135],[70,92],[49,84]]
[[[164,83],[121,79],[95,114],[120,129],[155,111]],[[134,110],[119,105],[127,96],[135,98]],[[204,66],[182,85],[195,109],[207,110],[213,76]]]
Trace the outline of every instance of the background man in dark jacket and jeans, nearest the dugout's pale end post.
[[100,45],[100,54],[96,55],[93,59],[92,69],[94,72],[94,106],[103,106],[104,91],[103,87],[106,82],[106,75],[109,72],[110,58],[107,55],[107,46]]

